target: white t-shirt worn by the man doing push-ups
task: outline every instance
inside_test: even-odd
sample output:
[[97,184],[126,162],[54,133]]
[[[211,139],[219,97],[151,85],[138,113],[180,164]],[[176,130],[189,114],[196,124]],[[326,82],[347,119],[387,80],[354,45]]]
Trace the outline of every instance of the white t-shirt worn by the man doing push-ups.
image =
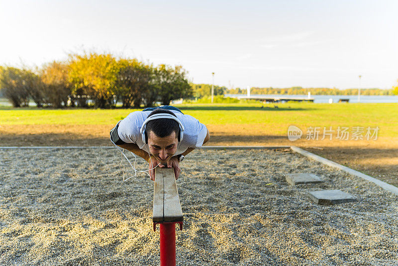
[[[184,125],[183,141],[178,143],[176,155],[183,153],[190,147],[201,147],[204,138],[207,135],[206,126],[201,124],[199,120],[190,115],[183,115],[182,113],[174,110],[170,111],[173,112],[173,114],[175,114]],[[144,124],[144,121],[151,112],[152,111],[135,111],[120,121],[119,127],[117,128],[117,134],[119,135],[120,139],[126,143],[136,143],[140,149],[149,152],[148,144],[145,144],[142,141],[140,130],[142,124]]]

